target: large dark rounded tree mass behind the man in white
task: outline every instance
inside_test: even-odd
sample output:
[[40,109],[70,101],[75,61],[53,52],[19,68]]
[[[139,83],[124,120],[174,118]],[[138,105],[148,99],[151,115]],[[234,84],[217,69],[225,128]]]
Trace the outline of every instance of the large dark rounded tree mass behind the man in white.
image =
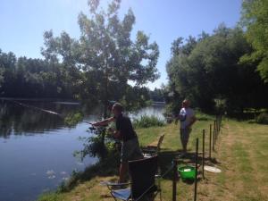
[[267,86],[255,72],[255,63],[239,63],[239,58],[251,51],[242,29],[228,29],[223,24],[211,36],[203,33],[185,43],[178,38],[166,65],[166,102],[177,112],[184,98],[205,112],[266,107]]

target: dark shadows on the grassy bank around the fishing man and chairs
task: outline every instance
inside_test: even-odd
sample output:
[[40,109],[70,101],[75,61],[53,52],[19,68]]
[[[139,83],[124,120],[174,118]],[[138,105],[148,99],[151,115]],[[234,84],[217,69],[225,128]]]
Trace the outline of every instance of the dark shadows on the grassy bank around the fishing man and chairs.
[[[161,170],[161,175],[165,174],[163,179],[173,180],[173,170],[172,170],[172,161],[174,158],[177,158],[180,165],[191,164],[195,165],[196,154],[189,152],[187,155],[181,156],[181,150],[170,151],[163,149],[159,153],[159,166]],[[198,166],[202,162],[202,157],[198,156]],[[216,164],[219,163],[216,159],[205,158],[205,164]],[[96,176],[99,177],[108,177],[118,175],[118,167],[120,166],[120,152],[109,153],[105,158],[101,159],[98,163],[86,168],[84,172],[76,172],[71,175],[71,179],[61,185],[58,188],[59,192],[68,192],[71,189],[75,188],[81,182],[91,180]],[[192,184],[191,180],[183,180],[188,184]]]

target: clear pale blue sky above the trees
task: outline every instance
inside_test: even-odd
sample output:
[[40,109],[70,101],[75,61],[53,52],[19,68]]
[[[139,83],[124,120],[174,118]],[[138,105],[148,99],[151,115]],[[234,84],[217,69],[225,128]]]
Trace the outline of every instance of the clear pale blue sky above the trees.
[[[103,7],[110,2],[100,1]],[[165,64],[174,39],[198,37],[202,31],[211,34],[222,22],[235,27],[241,4],[242,0],[121,0],[120,16],[131,7],[136,17],[131,37],[143,30],[159,46],[156,67],[161,77],[147,87],[167,83]],[[71,38],[80,37],[80,12],[89,13],[87,0],[0,0],[0,49],[17,57],[42,58],[46,30],[52,29],[54,36],[64,30]]]

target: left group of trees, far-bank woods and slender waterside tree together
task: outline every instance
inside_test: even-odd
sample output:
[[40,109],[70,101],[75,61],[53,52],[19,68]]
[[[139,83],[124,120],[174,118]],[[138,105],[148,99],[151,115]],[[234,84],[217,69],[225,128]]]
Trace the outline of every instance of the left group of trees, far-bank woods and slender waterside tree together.
[[120,4],[114,0],[105,11],[99,1],[88,1],[90,12],[78,17],[79,39],[46,31],[44,60],[16,59],[1,52],[1,96],[71,97],[105,106],[116,100],[128,108],[146,105],[150,94],[143,86],[159,77],[158,46],[143,31],[135,40],[130,38],[135,16],[129,10],[121,20]]

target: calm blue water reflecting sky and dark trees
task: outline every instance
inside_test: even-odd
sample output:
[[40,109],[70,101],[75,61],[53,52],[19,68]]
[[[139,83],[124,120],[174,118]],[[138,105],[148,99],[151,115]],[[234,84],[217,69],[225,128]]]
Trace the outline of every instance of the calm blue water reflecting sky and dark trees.
[[[40,105],[57,113],[77,111],[80,105],[49,103]],[[154,114],[163,118],[163,106],[148,107],[132,114]],[[93,114],[92,114],[93,113]],[[92,112],[87,121],[99,117]],[[63,120],[30,108],[0,101],[0,201],[32,201],[68,180],[74,170],[82,171],[97,162],[88,157],[83,163],[73,156],[83,148],[80,137],[93,135],[88,123],[66,128]]]

